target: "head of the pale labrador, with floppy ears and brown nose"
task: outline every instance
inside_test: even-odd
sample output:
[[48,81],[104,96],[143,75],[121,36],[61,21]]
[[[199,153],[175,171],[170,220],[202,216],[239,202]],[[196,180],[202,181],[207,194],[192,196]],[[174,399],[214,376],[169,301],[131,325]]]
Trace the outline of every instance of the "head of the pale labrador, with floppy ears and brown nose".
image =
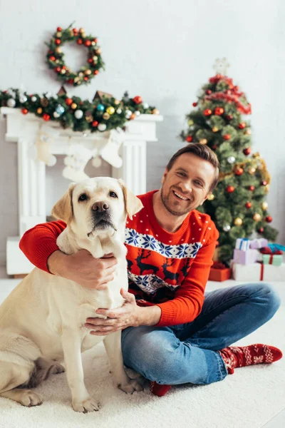
[[51,214],[70,225],[76,235],[93,238],[113,235],[125,227],[127,215],[132,218],[141,208],[140,199],[122,180],[96,177],[71,183]]

